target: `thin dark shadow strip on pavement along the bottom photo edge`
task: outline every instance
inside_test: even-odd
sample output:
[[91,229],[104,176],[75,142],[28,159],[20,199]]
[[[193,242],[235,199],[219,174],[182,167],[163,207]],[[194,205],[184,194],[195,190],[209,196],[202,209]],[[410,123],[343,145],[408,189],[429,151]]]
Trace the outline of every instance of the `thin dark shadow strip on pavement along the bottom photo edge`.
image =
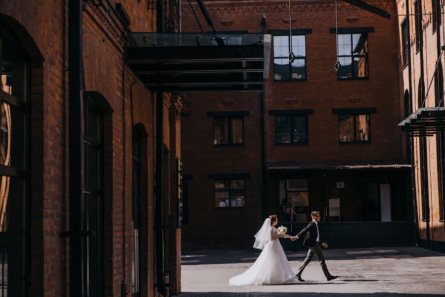
[[444,297],[443,294],[398,293],[271,293],[271,292],[184,292],[178,297]]

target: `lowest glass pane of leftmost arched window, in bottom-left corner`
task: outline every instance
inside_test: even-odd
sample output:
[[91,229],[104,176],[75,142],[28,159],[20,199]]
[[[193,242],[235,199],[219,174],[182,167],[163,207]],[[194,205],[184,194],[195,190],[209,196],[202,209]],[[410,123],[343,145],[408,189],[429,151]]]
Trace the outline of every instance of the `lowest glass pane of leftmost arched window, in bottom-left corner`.
[[0,294],[24,296],[25,183],[0,175],[0,202]]

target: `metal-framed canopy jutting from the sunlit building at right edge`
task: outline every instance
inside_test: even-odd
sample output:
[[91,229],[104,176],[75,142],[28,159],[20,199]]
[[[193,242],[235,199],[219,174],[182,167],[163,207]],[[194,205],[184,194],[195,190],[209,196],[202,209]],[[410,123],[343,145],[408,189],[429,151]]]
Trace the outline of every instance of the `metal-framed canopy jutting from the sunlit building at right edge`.
[[412,136],[432,136],[445,131],[445,107],[424,107],[413,112],[399,124],[402,132]]

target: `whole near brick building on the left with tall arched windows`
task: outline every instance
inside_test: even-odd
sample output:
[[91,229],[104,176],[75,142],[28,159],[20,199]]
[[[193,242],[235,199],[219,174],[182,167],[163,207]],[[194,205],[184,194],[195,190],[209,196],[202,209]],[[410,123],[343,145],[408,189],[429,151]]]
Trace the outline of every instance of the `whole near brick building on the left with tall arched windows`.
[[[124,63],[128,32],[159,29],[153,3],[117,2],[79,1],[77,9],[69,6],[74,1],[55,0],[0,5],[0,296],[157,296],[164,282],[170,293],[180,291],[180,101],[165,94],[157,104]],[[178,30],[169,7],[165,28]],[[70,64],[76,25],[83,70]],[[84,80],[73,100],[76,73]],[[82,108],[79,118],[70,118],[70,105]],[[159,110],[164,223],[155,226],[162,210],[154,191]],[[71,150],[76,126],[78,155]],[[70,168],[75,162],[83,169]],[[80,224],[70,226],[75,219]],[[158,250],[155,232],[162,225],[170,232]]]

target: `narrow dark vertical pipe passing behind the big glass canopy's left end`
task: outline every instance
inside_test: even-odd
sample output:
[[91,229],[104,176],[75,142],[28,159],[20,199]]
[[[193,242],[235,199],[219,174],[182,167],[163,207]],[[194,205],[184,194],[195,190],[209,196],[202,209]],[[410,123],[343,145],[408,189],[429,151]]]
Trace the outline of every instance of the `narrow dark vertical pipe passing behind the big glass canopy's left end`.
[[[164,32],[164,9],[162,1],[156,1],[156,32]],[[162,296],[167,295],[164,281],[164,234],[162,226],[162,177],[164,144],[164,94],[156,92],[156,169],[155,169],[155,250],[156,250],[156,288]]]

